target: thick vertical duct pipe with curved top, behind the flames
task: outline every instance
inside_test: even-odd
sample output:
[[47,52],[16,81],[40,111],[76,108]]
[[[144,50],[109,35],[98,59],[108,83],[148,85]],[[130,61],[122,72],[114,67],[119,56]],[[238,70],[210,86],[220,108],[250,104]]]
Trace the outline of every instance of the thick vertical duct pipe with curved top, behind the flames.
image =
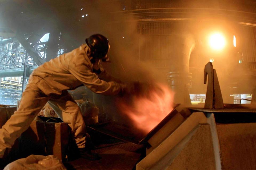
[[167,73],[169,86],[175,92],[174,102],[191,104],[189,87],[191,87],[192,73],[189,72],[190,54],[195,48],[192,35],[176,35],[171,56],[170,72]]

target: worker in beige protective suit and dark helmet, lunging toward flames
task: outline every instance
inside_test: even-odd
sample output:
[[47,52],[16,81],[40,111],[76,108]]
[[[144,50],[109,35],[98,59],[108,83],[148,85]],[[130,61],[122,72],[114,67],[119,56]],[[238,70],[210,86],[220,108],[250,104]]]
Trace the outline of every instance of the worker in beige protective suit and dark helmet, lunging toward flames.
[[[110,44],[106,37],[96,34],[86,39],[73,51],[45,62],[30,75],[29,83],[22,94],[17,111],[0,129],[0,158],[6,148],[27,129],[46,102],[67,123],[82,157],[94,160],[97,155],[87,148],[86,125],[77,103],[67,90],[85,85],[97,94],[117,95],[127,86],[113,81],[102,67],[101,61],[108,60]],[[116,80],[116,79],[115,79]]]

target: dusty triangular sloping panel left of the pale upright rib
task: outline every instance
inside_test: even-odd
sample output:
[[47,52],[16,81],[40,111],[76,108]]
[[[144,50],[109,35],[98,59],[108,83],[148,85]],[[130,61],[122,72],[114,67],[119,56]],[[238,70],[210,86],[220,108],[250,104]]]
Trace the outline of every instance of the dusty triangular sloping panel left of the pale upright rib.
[[195,134],[167,169],[215,169],[214,150],[209,125],[199,126]]

